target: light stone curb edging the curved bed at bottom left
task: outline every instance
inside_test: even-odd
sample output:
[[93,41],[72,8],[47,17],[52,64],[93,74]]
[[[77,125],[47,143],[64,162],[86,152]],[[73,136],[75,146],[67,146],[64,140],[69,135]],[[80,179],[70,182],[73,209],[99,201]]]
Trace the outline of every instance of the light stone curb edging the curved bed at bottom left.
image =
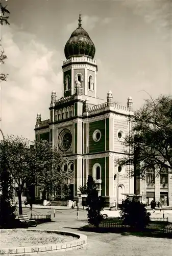
[[[6,229],[3,229],[6,230]],[[13,229],[8,229],[13,230]],[[17,229],[22,230],[23,229]],[[43,230],[43,229],[27,229],[28,231],[39,231],[39,232],[48,232],[48,233],[57,233],[66,236],[72,236],[78,238],[78,240],[73,240],[71,242],[64,242],[58,244],[45,244],[45,245],[33,245],[27,247],[11,247],[11,248],[1,248],[0,255],[5,256],[18,256],[18,255],[27,255],[33,254],[38,252],[53,252],[53,251],[67,251],[67,250],[74,250],[74,249],[81,249],[87,244],[87,236],[80,233],[73,233],[73,232],[66,232],[66,231],[59,231],[59,230]]]

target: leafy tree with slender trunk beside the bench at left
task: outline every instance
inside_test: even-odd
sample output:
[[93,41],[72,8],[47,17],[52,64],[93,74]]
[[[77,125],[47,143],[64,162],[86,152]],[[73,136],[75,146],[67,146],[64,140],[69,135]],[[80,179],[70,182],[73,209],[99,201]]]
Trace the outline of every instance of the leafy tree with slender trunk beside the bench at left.
[[47,141],[30,142],[22,137],[9,136],[0,141],[1,164],[14,181],[11,187],[18,193],[19,214],[22,214],[21,195],[24,189],[39,185],[49,195],[66,184],[67,172],[61,170],[63,156]]

